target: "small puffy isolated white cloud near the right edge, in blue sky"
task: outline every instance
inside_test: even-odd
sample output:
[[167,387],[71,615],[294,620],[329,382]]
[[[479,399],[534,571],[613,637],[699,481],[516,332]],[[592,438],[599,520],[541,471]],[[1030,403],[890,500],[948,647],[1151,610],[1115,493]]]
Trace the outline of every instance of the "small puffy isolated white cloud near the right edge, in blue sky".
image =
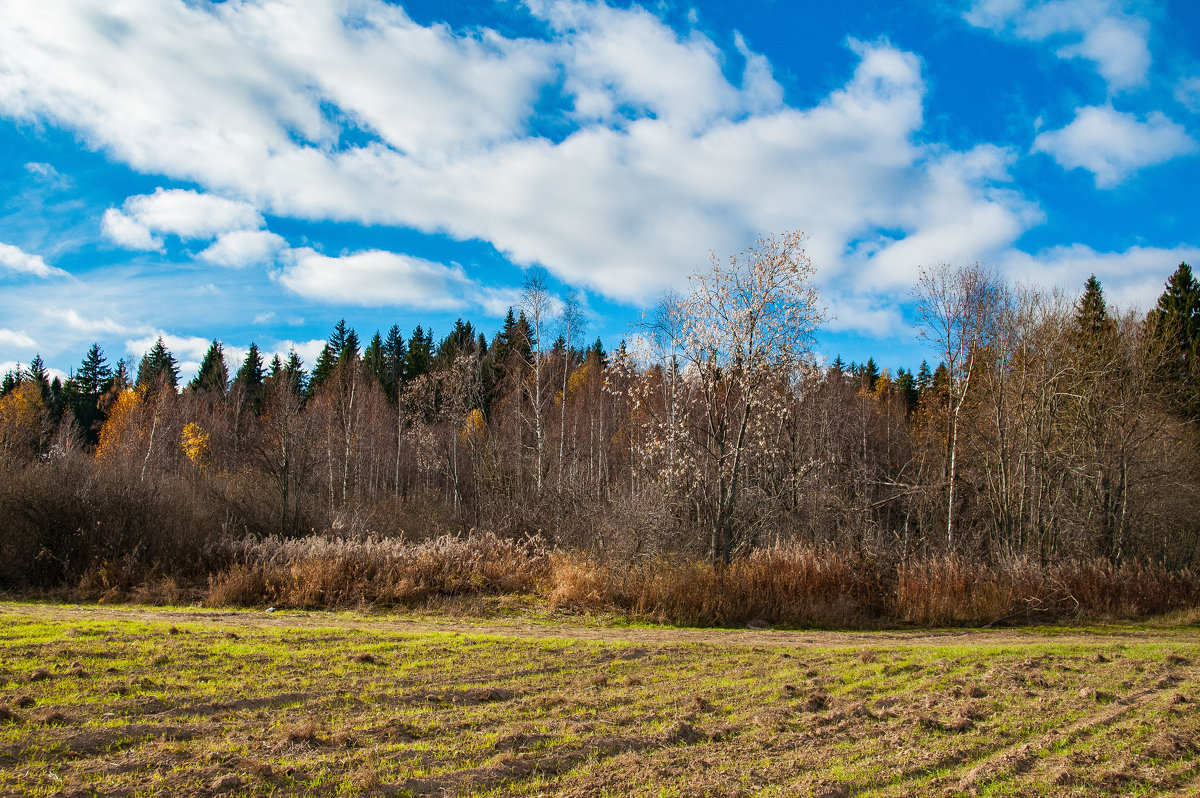
[[1064,169],[1087,169],[1099,188],[1110,188],[1142,167],[1193,152],[1196,143],[1183,126],[1159,112],[1146,121],[1109,106],[1080,108],[1057,131],[1039,133],[1033,151],[1046,152]]

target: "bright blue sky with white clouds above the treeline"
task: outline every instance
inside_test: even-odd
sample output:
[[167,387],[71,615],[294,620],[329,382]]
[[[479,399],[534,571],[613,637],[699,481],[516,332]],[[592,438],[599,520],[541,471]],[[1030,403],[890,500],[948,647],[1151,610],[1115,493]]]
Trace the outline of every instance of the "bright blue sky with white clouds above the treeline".
[[1194,0],[0,0],[0,372],[491,335],[534,269],[612,348],[788,230],[829,359],[930,356],[941,263],[1145,311],[1200,264],[1198,42]]

